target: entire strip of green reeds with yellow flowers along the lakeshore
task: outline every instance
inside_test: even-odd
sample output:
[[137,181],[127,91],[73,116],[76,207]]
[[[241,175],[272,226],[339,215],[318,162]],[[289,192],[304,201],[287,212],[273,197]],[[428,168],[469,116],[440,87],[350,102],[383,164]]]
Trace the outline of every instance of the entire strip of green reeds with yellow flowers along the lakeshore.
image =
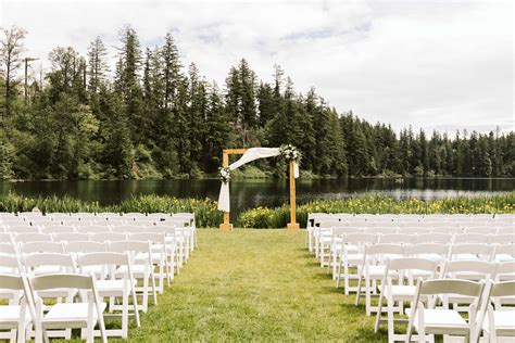
[[[115,205],[101,205],[70,196],[27,198],[16,193],[0,195],[0,212],[30,212],[34,207],[42,213],[76,212],[140,212],[178,213],[193,212],[199,228],[214,228],[222,221],[216,201],[210,199],[177,199],[159,195],[138,195]],[[397,200],[380,194],[352,196],[342,200],[317,200],[298,206],[297,220],[305,227],[307,214],[515,214],[515,192],[480,198],[444,198],[431,201],[419,199]],[[242,212],[237,226],[243,228],[284,228],[289,221],[288,204],[276,208],[258,207]]]

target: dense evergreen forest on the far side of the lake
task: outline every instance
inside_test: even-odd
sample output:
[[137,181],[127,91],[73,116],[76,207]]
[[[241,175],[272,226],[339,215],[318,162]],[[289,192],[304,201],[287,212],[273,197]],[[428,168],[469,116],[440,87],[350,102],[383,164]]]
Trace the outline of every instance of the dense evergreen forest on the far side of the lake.
[[[0,179],[199,178],[216,174],[224,148],[282,143],[302,151],[304,177],[515,176],[513,131],[398,134],[298,92],[278,65],[260,80],[244,59],[221,87],[183,65],[171,34],[143,48],[123,27],[114,67],[100,37],[87,55],[58,47],[37,76],[26,76],[27,33],[1,35]],[[279,158],[254,166],[286,173]]]

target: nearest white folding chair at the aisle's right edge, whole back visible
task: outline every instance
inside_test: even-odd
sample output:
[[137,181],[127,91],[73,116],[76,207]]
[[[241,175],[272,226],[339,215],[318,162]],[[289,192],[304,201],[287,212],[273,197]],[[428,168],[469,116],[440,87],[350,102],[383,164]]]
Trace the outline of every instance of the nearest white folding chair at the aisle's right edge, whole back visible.
[[[417,332],[417,342],[427,342],[427,340],[434,342],[435,334],[457,335],[466,339],[475,336],[477,307],[482,291],[482,282],[420,279],[417,282],[416,294],[412,300],[412,308],[406,309],[409,325],[405,341],[411,342],[414,330]],[[452,309],[436,308],[434,300],[427,301],[427,298],[445,296],[447,294],[459,294],[475,300],[468,309],[468,321],[460,313]],[[427,302],[427,306],[424,305],[425,302]]]

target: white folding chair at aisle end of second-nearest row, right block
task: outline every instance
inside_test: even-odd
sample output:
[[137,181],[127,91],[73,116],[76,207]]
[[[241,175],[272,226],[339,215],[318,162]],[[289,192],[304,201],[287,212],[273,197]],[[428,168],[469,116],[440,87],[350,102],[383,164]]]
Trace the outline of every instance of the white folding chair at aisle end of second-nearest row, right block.
[[[429,271],[429,279],[434,279],[437,272],[438,263],[425,258],[402,257],[395,259],[388,259],[385,268],[385,274],[381,281],[381,291],[379,294],[379,302],[376,316],[375,332],[379,330],[379,326],[385,319],[382,315],[382,300],[387,301],[387,323],[388,323],[388,341],[394,342],[398,340],[405,340],[404,334],[395,334],[394,323],[404,322],[405,320],[395,319],[395,312],[403,314],[404,302],[413,302],[416,293],[415,280],[412,272]],[[397,274],[397,284],[393,283],[391,272]],[[422,279],[422,278],[420,278]],[[395,305],[397,304],[397,305]]]

